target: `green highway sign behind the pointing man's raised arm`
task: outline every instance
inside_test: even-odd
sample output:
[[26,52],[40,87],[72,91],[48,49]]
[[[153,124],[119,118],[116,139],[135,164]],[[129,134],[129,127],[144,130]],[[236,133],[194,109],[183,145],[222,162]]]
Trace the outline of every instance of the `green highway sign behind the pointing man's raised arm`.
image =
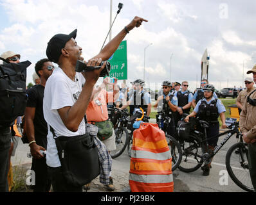
[[109,77],[127,79],[127,42],[123,40],[113,56],[109,58],[111,70]]

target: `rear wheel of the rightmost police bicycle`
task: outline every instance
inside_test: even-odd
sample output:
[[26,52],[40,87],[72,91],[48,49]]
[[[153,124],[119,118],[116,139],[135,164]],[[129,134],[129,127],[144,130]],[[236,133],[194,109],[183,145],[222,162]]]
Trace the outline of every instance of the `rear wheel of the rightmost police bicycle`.
[[182,159],[179,164],[179,170],[183,172],[194,172],[203,164],[203,149],[197,138],[190,142],[181,143]]

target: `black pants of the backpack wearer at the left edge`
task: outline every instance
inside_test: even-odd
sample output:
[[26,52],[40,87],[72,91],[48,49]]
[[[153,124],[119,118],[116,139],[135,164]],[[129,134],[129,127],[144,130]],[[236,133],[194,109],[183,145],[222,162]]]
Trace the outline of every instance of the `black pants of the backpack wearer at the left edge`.
[[9,192],[7,176],[11,137],[10,127],[0,129],[0,192]]

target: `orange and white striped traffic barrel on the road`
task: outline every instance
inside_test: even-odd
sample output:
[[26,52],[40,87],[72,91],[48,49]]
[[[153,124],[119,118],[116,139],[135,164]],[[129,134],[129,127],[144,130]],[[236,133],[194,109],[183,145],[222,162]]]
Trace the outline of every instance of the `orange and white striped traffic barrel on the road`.
[[157,124],[142,123],[133,132],[129,172],[132,192],[173,192],[172,156]]

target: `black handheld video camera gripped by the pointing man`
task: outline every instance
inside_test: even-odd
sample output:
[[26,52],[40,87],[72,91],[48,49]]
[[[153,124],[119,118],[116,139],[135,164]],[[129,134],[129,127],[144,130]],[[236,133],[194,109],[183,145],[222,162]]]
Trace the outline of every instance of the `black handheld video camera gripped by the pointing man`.
[[[94,69],[100,69],[102,67],[103,63],[104,63],[104,61],[102,61],[102,63],[100,63],[99,66],[87,66],[86,63],[84,63],[83,61],[77,60],[77,65],[75,66],[75,71],[76,72],[89,72]],[[102,70],[102,72],[100,72],[100,77],[109,76],[110,70],[111,70],[111,64],[109,63],[109,61],[107,61],[104,69]]]

